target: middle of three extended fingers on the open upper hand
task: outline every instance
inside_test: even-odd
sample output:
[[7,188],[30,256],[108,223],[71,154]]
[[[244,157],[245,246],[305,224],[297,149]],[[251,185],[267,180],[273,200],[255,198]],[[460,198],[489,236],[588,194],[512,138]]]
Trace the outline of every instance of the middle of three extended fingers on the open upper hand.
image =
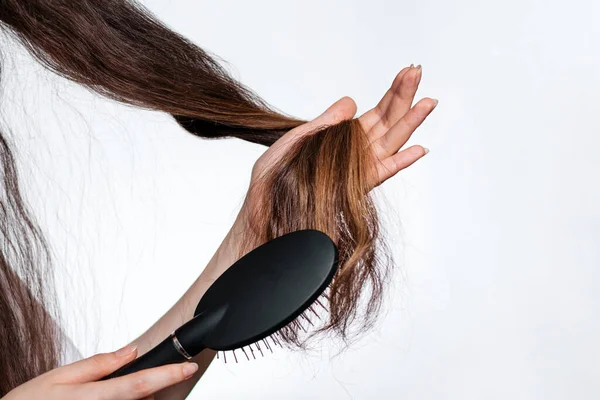
[[374,143],[376,156],[383,160],[396,153],[436,106],[437,100],[435,99],[421,99],[385,135]]

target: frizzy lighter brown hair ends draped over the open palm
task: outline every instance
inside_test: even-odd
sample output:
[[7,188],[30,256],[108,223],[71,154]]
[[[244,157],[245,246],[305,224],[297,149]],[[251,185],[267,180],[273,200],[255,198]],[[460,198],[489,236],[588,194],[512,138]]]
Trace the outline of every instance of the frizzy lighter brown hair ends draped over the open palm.
[[[380,308],[390,264],[369,195],[375,169],[368,147],[356,119],[307,135],[257,179],[247,197],[252,202],[240,256],[299,229],[325,232],[338,247],[340,268],[325,296],[328,319],[308,337],[331,332],[350,340],[351,326],[366,330]],[[361,309],[363,297],[367,303]],[[307,337],[300,333],[301,327],[291,324],[277,336],[304,347]]]

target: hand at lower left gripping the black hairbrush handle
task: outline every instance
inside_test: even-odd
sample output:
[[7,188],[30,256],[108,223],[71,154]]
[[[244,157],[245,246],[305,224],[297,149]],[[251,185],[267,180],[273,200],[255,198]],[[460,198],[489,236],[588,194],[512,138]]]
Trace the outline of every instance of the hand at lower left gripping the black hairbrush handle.
[[97,354],[40,375],[15,388],[4,400],[152,399],[157,391],[190,378],[198,370],[194,363],[171,364],[98,382],[136,355],[135,346]]

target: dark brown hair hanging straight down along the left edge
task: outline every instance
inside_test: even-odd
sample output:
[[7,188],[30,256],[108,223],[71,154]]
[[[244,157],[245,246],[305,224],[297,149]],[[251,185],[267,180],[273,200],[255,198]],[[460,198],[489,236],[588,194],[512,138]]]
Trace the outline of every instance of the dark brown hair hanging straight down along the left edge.
[[21,197],[15,159],[0,135],[0,397],[59,362],[49,249]]

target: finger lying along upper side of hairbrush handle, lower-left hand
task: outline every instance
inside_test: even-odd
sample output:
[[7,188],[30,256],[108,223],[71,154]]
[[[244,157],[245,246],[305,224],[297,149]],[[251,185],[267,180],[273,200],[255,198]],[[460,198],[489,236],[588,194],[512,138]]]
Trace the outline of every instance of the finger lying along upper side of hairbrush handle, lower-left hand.
[[135,359],[137,346],[130,345],[112,353],[96,354],[81,361],[58,368],[61,383],[97,381]]

